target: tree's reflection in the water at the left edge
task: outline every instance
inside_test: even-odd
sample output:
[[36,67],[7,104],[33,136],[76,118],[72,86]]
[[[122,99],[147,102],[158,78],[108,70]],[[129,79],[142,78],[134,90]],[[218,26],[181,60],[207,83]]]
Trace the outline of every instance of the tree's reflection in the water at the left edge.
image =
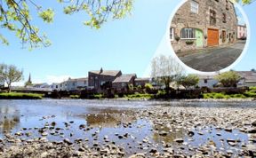
[[1,132],[11,132],[20,123],[20,112],[15,107],[0,107],[0,130]]

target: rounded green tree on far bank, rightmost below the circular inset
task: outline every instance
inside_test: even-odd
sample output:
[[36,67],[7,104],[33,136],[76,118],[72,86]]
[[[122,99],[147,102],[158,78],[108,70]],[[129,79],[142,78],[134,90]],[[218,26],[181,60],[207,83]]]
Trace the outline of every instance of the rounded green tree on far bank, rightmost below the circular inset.
[[220,75],[215,76],[215,79],[218,80],[224,87],[236,87],[241,79],[241,76],[236,73],[236,71],[228,71]]

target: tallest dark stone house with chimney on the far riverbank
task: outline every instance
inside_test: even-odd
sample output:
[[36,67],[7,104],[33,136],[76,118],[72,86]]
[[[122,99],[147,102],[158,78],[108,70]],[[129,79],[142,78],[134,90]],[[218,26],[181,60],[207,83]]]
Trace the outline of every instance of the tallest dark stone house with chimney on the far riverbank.
[[100,70],[88,72],[88,87],[97,92],[112,87],[112,82],[122,75],[121,70]]

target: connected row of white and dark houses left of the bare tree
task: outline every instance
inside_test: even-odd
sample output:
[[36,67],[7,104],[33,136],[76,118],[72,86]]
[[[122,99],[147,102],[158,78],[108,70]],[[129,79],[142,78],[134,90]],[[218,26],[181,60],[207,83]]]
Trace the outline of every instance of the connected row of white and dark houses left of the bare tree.
[[136,74],[123,74],[121,70],[103,70],[100,68],[100,70],[89,71],[88,77],[68,78],[67,81],[52,83],[49,86],[53,91],[95,90],[101,92],[108,88],[120,91],[127,90],[131,84],[144,87],[149,82],[149,78],[138,78]]

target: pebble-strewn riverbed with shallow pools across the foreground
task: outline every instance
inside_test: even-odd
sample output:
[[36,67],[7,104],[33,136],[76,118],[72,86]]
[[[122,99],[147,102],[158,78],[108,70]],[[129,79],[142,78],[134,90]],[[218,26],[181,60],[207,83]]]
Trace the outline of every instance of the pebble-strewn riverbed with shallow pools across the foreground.
[[[0,157],[255,157],[256,156],[256,107],[150,107],[123,113],[122,118],[147,119],[152,124],[153,135],[142,139],[133,131],[113,133],[100,137],[100,130],[93,130],[92,139],[70,140],[64,131],[75,122],[63,122],[64,128],[48,120],[58,115],[45,116],[44,126],[20,128],[13,134],[0,138]],[[108,112],[106,114],[108,115]],[[111,114],[109,114],[111,115]],[[143,132],[143,125],[136,132]],[[132,121],[116,122],[116,128],[132,128]],[[75,130],[84,133],[92,130],[92,124],[80,124]],[[38,132],[40,136],[33,136]],[[172,138],[172,133],[177,133]],[[48,139],[50,135],[62,136],[60,140]],[[28,138],[26,138],[28,137]],[[158,138],[158,142],[152,139]],[[131,139],[136,146],[126,142]],[[119,143],[118,143],[119,142]],[[121,143],[120,143],[121,142]],[[127,152],[129,148],[136,151]]]

